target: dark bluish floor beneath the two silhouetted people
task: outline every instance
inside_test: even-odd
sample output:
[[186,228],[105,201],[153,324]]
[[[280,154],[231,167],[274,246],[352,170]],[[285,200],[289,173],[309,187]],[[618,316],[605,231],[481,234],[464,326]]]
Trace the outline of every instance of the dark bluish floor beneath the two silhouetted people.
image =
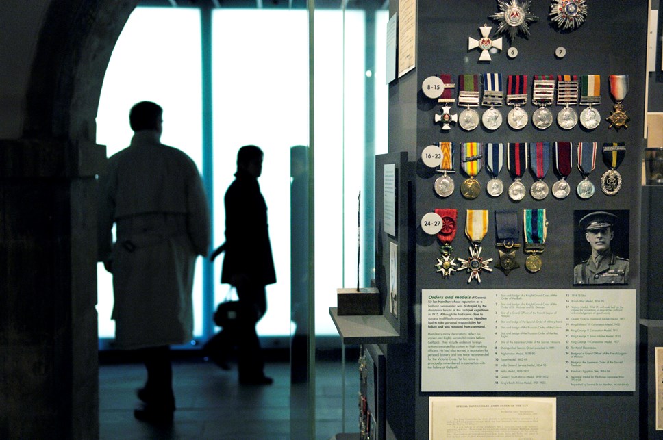
[[[265,374],[274,378],[273,385],[239,385],[236,368],[221,370],[200,357],[175,360],[175,421],[169,428],[153,428],[133,415],[139,406],[136,389],[145,381],[145,367],[140,363],[101,362],[100,438],[290,439],[290,366],[288,362],[270,362]],[[341,363],[316,363],[316,439],[329,439],[344,430],[358,431],[359,377],[352,361],[346,364],[345,376],[344,429]],[[306,395],[306,384],[295,387],[293,396]],[[297,437],[301,438],[293,438]]]

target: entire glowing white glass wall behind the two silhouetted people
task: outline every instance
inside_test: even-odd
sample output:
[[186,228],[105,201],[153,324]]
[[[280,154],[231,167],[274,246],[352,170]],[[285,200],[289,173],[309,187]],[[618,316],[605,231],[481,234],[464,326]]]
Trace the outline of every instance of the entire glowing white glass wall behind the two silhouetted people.
[[[364,182],[366,75],[375,75],[375,152],[386,152],[384,49],[375,72],[366,72],[366,13],[320,10],[315,14],[316,333],[336,335],[329,307],[336,288],[356,284],[358,193]],[[376,42],[384,41],[387,12],[376,16]],[[195,8],[137,8],[116,45],[104,79],[97,142],[111,155],[129,144],[129,108],[142,100],[164,107],[162,142],[182,148],[202,170],[201,16]],[[251,23],[251,25],[247,25]],[[344,39],[345,27],[345,39]],[[345,44],[344,44],[345,42]],[[378,44],[378,48],[384,44]],[[308,144],[308,17],[305,10],[229,10],[212,14],[213,246],[223,243],[223,195],[234,179],[240,146],[265,153],[262,193],[268,205],[277,283],[267,287],[262,336],[290,334],[290,147]],[[371,159],[371,158],[368,158]],[[368,208],[370,209],[370,207]],[[366,204],[362,204],[366,210]],[[362,237],[373,240],[373,237]],[[195,336],[203,335],[203,296],[214,304],[228,294],[221,285],[223,255],[213,264],[214,283],[203,292],[199,259]],[[260,255],[255,256],[260,264]],[[362,258],[373,263],[373,257]],[[362,267],[362,274],[366,268]],[[370,269],[370,268],[369,268]],[[370,271],[369,271],[370,272]],[[370,280],[364,279],[362,285]],[[110,274],[99,266],[99,336],[114,335]]]

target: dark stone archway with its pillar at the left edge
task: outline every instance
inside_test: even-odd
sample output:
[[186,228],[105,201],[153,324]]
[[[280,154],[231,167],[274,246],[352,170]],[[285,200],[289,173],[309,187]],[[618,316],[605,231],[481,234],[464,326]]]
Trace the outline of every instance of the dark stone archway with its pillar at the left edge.
[[99,436],[95,118],[136,3],[51,1],[23,135],[0,140],[0,438]]

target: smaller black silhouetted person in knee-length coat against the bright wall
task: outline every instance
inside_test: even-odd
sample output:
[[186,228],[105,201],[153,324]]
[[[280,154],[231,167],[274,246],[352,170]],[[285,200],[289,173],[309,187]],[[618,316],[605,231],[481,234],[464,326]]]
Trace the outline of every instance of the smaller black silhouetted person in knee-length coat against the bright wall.
[[238,378],[244,385],[270,385],[255,324],[267,310],[265,286],[276,283],[269,241],[267,205],[260,192],[263,153],[255,145],[237,153],[235,180],[225,193],[225,257],[221,283],[237,289],[238,323],[232,339],[238,348]]

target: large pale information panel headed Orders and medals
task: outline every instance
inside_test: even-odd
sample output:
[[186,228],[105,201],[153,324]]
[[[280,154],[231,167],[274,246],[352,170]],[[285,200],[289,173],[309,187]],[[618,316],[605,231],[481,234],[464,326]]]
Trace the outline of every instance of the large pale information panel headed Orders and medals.
[[421,391],[635,390],[635,289],[421,298]]

